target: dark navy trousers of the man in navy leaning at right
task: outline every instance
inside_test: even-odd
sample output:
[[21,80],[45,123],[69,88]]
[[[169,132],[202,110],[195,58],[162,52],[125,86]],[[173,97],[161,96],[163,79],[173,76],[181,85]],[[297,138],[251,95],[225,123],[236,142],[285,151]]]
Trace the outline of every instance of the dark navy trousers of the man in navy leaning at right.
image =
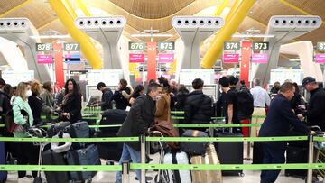
[[[285,147],[283,145],[274,146],[267,143],[263,143],[264,160],[263,164],[283,164],[285,162],[284,152]],[[274,183],[278,177],[280,170],[262,170],[261,182],[262,183]]]

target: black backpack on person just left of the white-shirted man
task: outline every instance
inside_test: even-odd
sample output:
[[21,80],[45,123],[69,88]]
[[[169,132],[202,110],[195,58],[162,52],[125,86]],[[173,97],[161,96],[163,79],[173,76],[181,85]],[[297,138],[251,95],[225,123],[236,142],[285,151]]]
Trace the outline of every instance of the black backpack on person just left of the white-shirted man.
[[251,118],[254,112],[254,98],[246,87],[237,92],[237,111],[239,120]]

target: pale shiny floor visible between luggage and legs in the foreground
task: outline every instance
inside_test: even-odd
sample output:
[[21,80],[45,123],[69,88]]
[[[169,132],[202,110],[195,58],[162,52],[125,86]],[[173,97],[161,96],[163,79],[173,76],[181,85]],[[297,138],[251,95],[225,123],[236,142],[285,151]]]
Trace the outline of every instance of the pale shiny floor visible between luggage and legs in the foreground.
[[[246,147],[245,147],[246,149]],[[244,157],[246,157],[246,151],[244,152]],[[157,162],[158,161],[158,154],[153,155],[153,162]],[[104,162],[103,162],[104,163]],[[250,161],[245,161],[245,163],[251,163]],[[224,183],[259,183],[260,182],[260,171],[244,171],[245,176],[244,177],[223,177],[223,182]],[[147,172],[147,176],[149,177],[153,177],[156,175],[157,173],[154,171],[149,171]],[[114,172],[98,172],[97,176],[95,178],[93,178],[94,183],[114,183],[115,182],[115,175],[116,173]],[[8,183],[27,183],[27,182],[32,182],[31,181],[18,181],[17,180],[17,174],[16,172],[10,172],[9,173],[9,178],[8,178]],[[44,177],[44,176],[42,176]],[[131,172],[130,174],[130,182],[131,183],[135,183],[137,181],[135,181],[135,173]],[[154,182],[154,181],[151,181]],[[283,171],[280,173],[279,178],[277,179],[276,183],[303,183],[305,182],[303,179],[301,178],[292,178],[292,177],[285,177]]]

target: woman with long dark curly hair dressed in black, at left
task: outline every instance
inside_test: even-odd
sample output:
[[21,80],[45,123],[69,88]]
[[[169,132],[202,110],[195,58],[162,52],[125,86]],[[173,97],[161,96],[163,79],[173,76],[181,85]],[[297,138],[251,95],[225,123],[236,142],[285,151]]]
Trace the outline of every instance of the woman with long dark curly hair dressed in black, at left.
[[82,119],[81,116],[81,94],[76,81],[73,78],[67,80],[65,86],[65,96],[62,101],[62,120],[70,121],[74,124]]

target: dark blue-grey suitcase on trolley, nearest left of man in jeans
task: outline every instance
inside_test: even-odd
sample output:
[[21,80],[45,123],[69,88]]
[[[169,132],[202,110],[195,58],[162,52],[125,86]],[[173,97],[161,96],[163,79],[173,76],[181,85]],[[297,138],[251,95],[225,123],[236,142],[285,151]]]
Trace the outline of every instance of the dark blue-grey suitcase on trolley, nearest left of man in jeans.
[[[100,165],[98,146],[89,144],[86,148],[80,150],[69,151],[67,153],[69,165]],[[93,178],[97,174],[96,171],[75,171],[70,172],[72,181],[85,181]]]

